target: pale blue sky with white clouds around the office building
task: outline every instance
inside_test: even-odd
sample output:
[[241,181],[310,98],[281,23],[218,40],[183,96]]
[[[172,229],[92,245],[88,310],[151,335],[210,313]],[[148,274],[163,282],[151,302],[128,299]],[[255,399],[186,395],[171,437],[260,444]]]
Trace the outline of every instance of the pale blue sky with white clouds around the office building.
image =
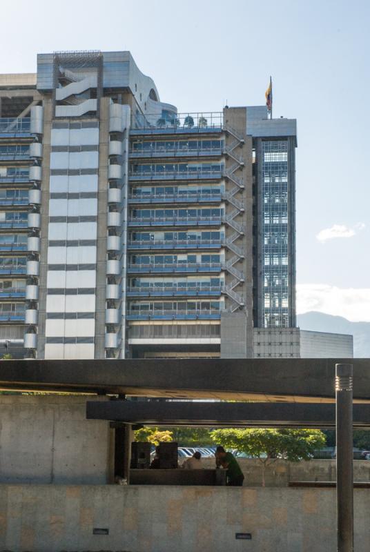
[[298,120],[298,313],[370,321],[367,0],[18,0],[0,72],[37,52],[130,50],[179,112],[262,105]]

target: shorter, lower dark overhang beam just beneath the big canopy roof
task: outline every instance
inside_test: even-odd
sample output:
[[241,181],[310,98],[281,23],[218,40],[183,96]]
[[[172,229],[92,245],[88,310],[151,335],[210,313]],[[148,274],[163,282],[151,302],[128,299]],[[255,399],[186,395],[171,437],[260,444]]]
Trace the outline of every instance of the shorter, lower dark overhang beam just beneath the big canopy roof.
[[[86,417],[155,426],[334,428],[335,404],[88,401]],[[353,427],[369,426],[370,404],[355,404]]]

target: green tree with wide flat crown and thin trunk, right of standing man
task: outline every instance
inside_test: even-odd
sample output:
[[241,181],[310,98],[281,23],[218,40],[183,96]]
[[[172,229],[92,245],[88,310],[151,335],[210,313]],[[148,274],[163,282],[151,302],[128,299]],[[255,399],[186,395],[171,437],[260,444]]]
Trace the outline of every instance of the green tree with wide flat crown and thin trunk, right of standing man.
[[278,459],[311,460],[314,451],[326,441],[318,429],[215,429],[211,437],[216,444],[260,460],[262,486],[266,484],[266,466]]

